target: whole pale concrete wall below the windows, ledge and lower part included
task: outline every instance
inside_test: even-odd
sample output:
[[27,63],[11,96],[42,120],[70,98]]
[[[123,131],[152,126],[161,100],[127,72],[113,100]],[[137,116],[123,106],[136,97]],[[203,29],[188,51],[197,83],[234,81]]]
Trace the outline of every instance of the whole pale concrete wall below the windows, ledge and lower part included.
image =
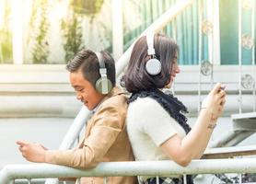
[[[192,125],[199,104],[199,69],[180,66],[180,70],[174,85],[175,94],[188,107]],[[243,74],[253,75],[252,69],[244,66]],[[202,76],[201,80],[203,99],[212,85],[209,76]],[[230,115],[239,113],[238,66],[215,66],[213,81],[227,86],[226,108],[211,139],[217,141],[232,130]],[[242,94],[243,112],[253,111],[252,91],[243,90]],[[69,85],[64,65],[0,65],[0,167],[27,163],[17,151],[17,139],[57,149],[81,107]],[[252,135],[241,144],[254,144],[255,139]],[[201,180],[204,183],[204,178]]]

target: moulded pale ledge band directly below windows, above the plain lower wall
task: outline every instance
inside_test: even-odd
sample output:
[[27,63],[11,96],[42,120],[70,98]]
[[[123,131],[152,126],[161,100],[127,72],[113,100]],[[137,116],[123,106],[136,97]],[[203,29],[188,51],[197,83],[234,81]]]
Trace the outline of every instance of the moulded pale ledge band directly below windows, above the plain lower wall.
[[[175,93],[194,116],[199,103],[198,66],[180,66],[176,77]],[[243,75],[254,78],[253,69],[243,66]],[[201,93],[204,96],[212,82],[226,85],[229,116],[239,112],[239,68],[238,66],[215,66],[214,77],[201,75]],[[251,90],[242,91],[243,111],[253,110],[255,98]],[[64,65],[0,65],[0,117],[75,117],[81,108],[73,88],[69,85],[68,72]]]

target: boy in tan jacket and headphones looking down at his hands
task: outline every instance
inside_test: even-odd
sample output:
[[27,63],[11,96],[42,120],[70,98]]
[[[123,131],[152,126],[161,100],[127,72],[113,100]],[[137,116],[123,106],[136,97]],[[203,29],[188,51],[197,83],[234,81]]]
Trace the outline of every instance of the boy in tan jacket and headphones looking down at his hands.
[[[95,167],[99,162],[132,161],[125,117],[127,103],[115,86],[115,64],[107,52],[82,50],[66,65],[76,98],[93,115],[87,121],[85,137],[71,150],[47,150],[41,144],[17,141],[22,155],[31,162],[50,163],[76,168]],[[113,87],[111,87],[113,86]],[[110,184],[133,184],[134,177],[110,177]],[[81,183],[102,184],[103,178],[81,178]]]

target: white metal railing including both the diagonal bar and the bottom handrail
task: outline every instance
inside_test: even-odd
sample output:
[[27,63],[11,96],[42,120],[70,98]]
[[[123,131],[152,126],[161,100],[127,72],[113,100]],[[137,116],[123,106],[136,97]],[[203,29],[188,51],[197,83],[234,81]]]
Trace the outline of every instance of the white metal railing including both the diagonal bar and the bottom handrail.
[[[172,6],[165,14],[141,34],[145,35],[148,31],[157,32],[163,29],[173,18],[187,6],[191,6],[195,0],[179,1],[177,5]],[[135,41],[134,41],[135,42]],[[116,63],[117,76],[122,74],[126,67],[134,44],[123,53],[122,57]],[[73,122],[68,132],[64,136],[60,149],[70,149],[76,142],[79,132],[85,126],[89,111],[82,108],[76,120]],[[252,132],[250,132],[252,133]],[[229,143],[235,136],[234,132],[229,133],[225,140],[215,143],[215,145],[237,144]],[[215,146],[214,145],[214,146]],[[188,167],[180,167],[172,161],[145,161],[145,162],[112,162],[100,163],[99,166],[79,170],[71,167],[62,167],[50,164],[33,165],[9,165],[0,172],[0,183],[14,183],[17,178],[81,178],[81,177],[109,177],[109,176],[161,176],[161,175],[187,175],[187,174],[211,174],[211,173],[256,173],[256,159],[254,158],[235,158],[235,159],[215,159],[215,160],[192,160]],[[30,183],[30,180],[28,180]],[[56,183],[56,179],[48,180],[48,184]]]

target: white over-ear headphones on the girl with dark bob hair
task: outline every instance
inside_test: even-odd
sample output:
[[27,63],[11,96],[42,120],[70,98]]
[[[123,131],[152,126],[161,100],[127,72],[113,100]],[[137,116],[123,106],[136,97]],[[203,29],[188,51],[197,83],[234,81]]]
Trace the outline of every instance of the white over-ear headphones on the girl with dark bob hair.
[[159,60],[157,60],[156,52],[154,49],[154,32],[149,32],[146,34],[146,44],[147,44],[147,55],[151,56],[151,59],[145,63],[145,71],[149,75],[158,75],[161,72],[162,66]]

